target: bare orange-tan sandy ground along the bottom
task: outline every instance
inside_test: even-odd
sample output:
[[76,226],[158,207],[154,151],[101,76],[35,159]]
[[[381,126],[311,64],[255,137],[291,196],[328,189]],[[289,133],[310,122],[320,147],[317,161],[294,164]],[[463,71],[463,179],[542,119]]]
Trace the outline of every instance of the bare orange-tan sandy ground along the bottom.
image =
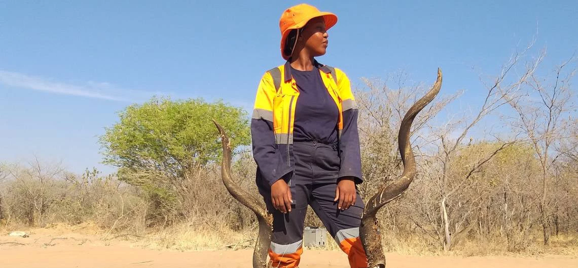
[[[32,233],[29,237],[0,234],[0,267],[251,267],[251,250],[161,251],[133,247],[131,241],[102,241],[86,233]],[[387,267],[558,268],[578,267],[572,256],[413,256],[387,254]],[[302,268],[347,268],[338,251],[305,250]]]

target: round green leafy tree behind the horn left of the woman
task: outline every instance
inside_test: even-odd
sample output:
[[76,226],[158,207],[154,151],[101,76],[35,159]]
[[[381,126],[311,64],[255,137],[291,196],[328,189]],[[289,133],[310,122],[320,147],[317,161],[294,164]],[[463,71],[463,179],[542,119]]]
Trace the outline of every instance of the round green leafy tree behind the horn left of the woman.
[[197,168],[220,160],[221,144],[211,119],[228,131],[232,149],[250,143],[247,113],[222,101],[153,97],[128,106],[119,117],[100,139],[104,163],[118,167],[120,180],[163,201],[178,201]]

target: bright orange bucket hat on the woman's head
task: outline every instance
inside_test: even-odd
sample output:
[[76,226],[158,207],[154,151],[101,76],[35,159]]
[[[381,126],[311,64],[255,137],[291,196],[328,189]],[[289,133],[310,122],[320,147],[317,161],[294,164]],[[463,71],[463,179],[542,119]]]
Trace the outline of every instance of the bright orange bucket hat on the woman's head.
[[291,30],[302,28],[309,20],[316,17],[323,17],[327,30],[337,23],[337,16],[335,16],[335,14],[320,12],[317,7],[307,5],[306,3],[289,7],[281,14],[279,20],[279,28],[281,30],[281,56],[283,56],[285,60],[288,60],[291,56],[283,54],[283,47]]

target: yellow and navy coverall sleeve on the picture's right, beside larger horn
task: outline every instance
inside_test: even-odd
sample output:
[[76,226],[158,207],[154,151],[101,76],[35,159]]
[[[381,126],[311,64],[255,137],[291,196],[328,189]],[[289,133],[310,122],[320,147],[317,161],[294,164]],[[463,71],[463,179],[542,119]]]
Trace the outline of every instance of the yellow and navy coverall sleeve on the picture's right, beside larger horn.
[[358,110],[351,92],[349,78],[342,70],[335,69],[337,86],[342,99],[343,130],[339,140],[341,165],[339,178],[353,176],[355,183],[362,183],[360,138],[357,130]]

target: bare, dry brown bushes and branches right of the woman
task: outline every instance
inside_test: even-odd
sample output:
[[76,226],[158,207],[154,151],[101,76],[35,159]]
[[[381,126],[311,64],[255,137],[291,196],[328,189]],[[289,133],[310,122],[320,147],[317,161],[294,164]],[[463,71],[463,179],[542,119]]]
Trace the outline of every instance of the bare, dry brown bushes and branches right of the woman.
[[[552,90],[536,86],[536,81],[542,81],[535,71],[543,55],[527,56],[530,48],[514,54],[503,65],[502,72],[484,84],[487,98],[479,110],[473,110],[472,114],[450,112],[447,122],[436,119],[433,123],[433,116],[457,97],[452,95],[440,99],[416,120],[412,128],[412,149],[416,153],[418,174],[404,196],[378,215],[382,236],[386,237],[383,239],[386,250],[437,252],[443,249],[466,255],[540,253],[547,251],[539,245],[540,229],[548,232],[544,237],[573,236],[578,232],[578,206],[574,205],[578,203],[575,187],[578,138],[572,139],[578,131],[567,139],[562,139],[565,135],[562,131],[556,135],[536,134],[535,138],[528,139],[521,134],[518,137],[513,130],[499,133],[501,124],[509,129],[506,120],[492,123],[491,129],[484,126],[487,123],[484,120],[499,118],[498,112],[504,112],[510,103],[527,96],[525,89]],[[524,65],[524,59],[529,59],[528,64]],[[517,70],[520,67],[522,71]],[[560,68],[556,71],[560,73]],[[571,70],[565,80],[561,79],[564,83],[560,90],[568,92],[570,83],[566,81],[574,73]],[[365,198],[400,173],[398,122],[424,90],[420,84],[407,82],[405,74],[393,77],[386,81],[365,80],[366,89],[355,93],[360,106],[365,181],[360,190]],[[558,81],[554,78],[551,81]],[[544,84],[547,83],[540,82]],[[560,98],[557,94],[561,91],[553,88],[554,95]],[[552,99],[548,94],[541,95],[546,96],[546,103]],[[539,96],[535,99],[540,100]],[[568,107],[564,109],[569,111]],[[548,122],[547,113],[543,115],[534,115],[530,123]],[[578,129],[573,116],[566,117],[568,120],[565,118],[560,126],[565,130],[571,127],[569,122],[574,122],[572,126]],[[535,125],[538,126],[532,124]],[[476,137],[472,132],[484,136]],[[540,138],[552,137],[559,139],[552,142],[550,162],[546,163],[549,168],[544,173],[544,157],[533,150],[534,143]]]

